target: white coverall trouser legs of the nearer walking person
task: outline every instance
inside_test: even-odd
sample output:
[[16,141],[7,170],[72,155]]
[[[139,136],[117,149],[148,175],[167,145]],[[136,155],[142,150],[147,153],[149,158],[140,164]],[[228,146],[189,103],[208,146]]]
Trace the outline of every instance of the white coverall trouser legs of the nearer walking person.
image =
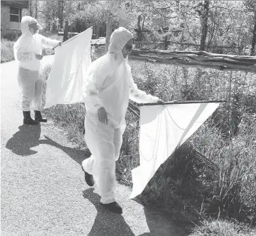
[[116,161],[114,130],[99,121],[85,121],[85,141],[92,156],[83,161],[83,169],[94,176],[96,192],[103,204],[116,201]]

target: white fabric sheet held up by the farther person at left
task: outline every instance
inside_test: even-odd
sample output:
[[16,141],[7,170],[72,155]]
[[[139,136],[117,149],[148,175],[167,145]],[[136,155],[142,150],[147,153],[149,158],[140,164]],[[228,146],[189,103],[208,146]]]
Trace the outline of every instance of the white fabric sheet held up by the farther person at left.
[[83,102],[82,87],[91,63],[89,28],[55,48],[54,65],[47,80],[45,108]]

